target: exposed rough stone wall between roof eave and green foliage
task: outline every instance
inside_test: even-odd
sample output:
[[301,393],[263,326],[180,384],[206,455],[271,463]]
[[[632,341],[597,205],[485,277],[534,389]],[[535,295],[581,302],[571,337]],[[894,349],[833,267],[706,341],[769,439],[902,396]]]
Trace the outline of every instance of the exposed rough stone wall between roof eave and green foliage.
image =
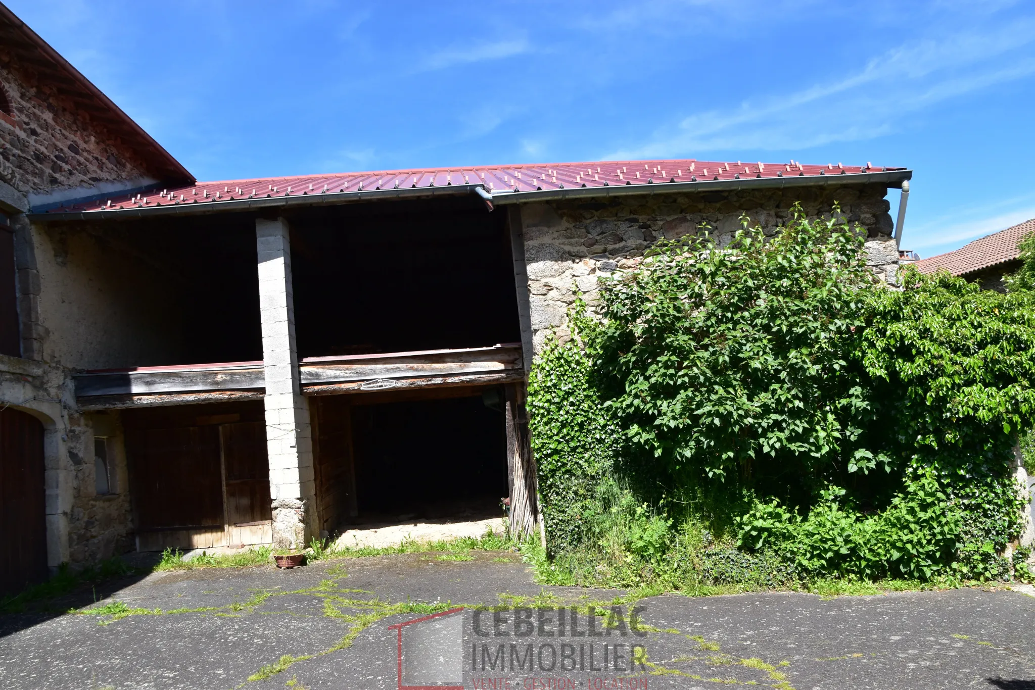
[[632,268],[658,239],[696,233],[708,223],[719,243],[729,242],[746,213],[751,224],[774,233],[801,202],[809,218],[840,205],[849,222],[866,231],[867,264],[894,286],[898,250],[891,238],[892,221],[886,188],[879,185],[794,187],[698,194],[629,196],[600,200],[560,201],[522,206],[525,258],[533,344],[536,353],[551,330],[566,337],[567,308],[576,286],[585,299],[596,297],[601,274]]

